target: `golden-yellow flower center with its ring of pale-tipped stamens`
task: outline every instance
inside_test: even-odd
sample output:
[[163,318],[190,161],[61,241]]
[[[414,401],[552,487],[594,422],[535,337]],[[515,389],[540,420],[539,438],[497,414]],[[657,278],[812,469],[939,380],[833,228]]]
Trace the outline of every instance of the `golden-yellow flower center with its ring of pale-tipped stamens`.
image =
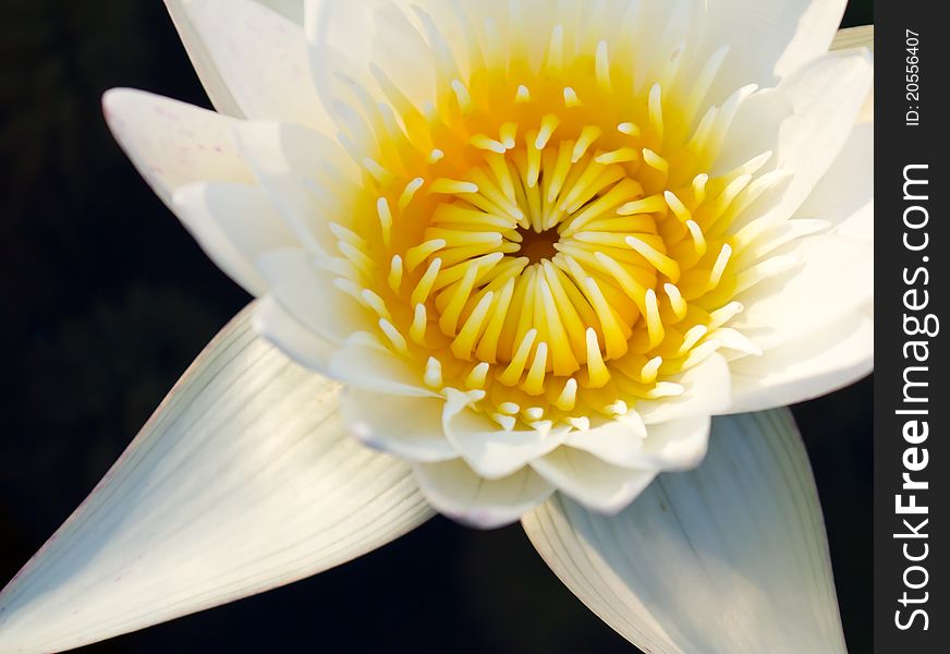
[[390,88],[399,120],[362,161],[373,210],[360,235],[337,226],[380,341],[506,428],[623,414],[741,347],[722,327],[758,228],[736,219],[774,182],[753,181],[769,154],[714,174],[747,94],[699,113],[715,66],[665,98],[602,43],[569,61],[555,32],[539,70],[486,65],[424,109]]

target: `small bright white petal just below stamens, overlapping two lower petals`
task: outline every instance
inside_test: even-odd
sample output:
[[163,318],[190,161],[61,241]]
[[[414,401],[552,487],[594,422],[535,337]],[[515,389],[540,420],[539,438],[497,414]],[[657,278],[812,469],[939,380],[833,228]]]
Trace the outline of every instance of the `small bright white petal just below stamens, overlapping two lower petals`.
[[454,389],[447,392],[443,433],[472,470],[486,479],[514,474],[561,445],[568,435],[567,427],[548,426],[508,432],[488,416],[468,409],[464,393]]

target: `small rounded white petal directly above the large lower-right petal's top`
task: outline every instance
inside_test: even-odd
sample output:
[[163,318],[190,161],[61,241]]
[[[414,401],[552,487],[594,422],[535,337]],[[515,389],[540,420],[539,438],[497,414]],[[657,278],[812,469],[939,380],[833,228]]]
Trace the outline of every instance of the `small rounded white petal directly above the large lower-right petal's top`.
[[572,447],[560,447],[535,459],[531,467],[564,495],[604,513],[616,513],[626,507],[657,474],[656,469],[611,465]]

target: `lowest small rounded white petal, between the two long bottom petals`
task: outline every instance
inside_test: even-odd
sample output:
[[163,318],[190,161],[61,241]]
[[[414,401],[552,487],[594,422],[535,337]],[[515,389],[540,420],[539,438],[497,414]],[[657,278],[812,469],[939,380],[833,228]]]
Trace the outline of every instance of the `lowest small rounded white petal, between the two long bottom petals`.
[[440,513],[480,529],[517,521],[553,492],[528,468],[501,480],[485,480],[460,459],[419,463],[415,474],[423,495]]

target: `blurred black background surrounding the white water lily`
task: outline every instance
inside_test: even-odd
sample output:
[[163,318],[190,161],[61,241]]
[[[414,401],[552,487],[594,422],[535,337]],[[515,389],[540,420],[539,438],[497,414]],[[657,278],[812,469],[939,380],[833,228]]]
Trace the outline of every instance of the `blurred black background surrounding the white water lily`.
[[[207,106],[160,0],[2,0],[0,585],[85,497],[248,298],[121,154],[99,98]],[[845,24],[872,22],[869,0]],[[872,386],[795,408],[850,650],[870,651]],[[520,528],[435,519],[289,588],[84,651],[626,652]]]

